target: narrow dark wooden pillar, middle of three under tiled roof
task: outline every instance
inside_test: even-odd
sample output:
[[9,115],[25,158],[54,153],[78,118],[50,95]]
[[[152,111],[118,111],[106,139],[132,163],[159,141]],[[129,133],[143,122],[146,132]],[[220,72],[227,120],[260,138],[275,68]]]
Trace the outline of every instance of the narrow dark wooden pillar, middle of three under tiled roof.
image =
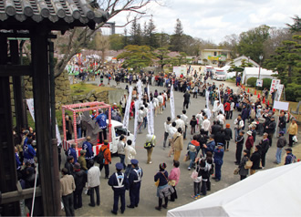
[[[12,64],[19,64],[19,49],[17,40],[9,41],[10,55],[12,58]],[[14,98],[15,98],[15,112],[16,112],[16,129],[18,132],[21,128],[25,127],[24,112],[23,112],[23,98],[22,98],[22,86],[21,77],[13,77],[14,86]]]

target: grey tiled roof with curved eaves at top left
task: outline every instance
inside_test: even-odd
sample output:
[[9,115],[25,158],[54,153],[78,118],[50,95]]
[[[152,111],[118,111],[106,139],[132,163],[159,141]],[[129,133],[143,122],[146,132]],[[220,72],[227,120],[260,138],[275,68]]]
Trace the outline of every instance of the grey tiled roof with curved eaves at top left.
[[0,0],[0,28],[35,23],[57,26],[89,26],[106,22],[109,13],[100,9],[95,1],[86,0]]

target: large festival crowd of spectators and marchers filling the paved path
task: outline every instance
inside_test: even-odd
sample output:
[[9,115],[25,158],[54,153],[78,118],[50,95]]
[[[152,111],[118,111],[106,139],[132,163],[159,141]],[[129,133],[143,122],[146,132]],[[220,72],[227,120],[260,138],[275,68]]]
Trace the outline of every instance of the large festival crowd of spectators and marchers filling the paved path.
[[[225,87],[224,84],[217,86],[214,82],[208,82],[209,75],[193,76],[192,78],[185,78],[181,75],[181,77],[176,78],[174,74],[155,76],[151,72],[141,72],[139,75],[135,75],[126,70],[116,70],[109,75],[99,72],[95,75],[99,77],[100,84],[104,76],[112,78],[117,84],[125,82],[132,85],[136,84],[139,79],[142,81],[145,88],[137,117],[139,133],[147,128],[147,114],[150,103],[154,109],[153,114],[157,117],[166,109],[172,86],[175,91],[183,93],[182,114],[178,114],[176,119],[168,117],[163,126],[164,139],[160,145],[164,150],[169,149],[167,157],[171,158],[172,156],[173,168],[169,174],[166,171],[166,164],[162,162],[159,165],[159,171],[154,176],[157,197],[159,198],[159,205],[155,209],[158,211],[161,211],[161,208],[167,208],[169,198],[171,202],[178,198],[176,186],[180,181],[181,171],[179,167],[182,152],[185,155],[184,160],[187,161],[188,171],[192,171],[193,199],[198,199],[206,195],[207,191],[211,191],[211,179],[221,181],[223,156],[229,151],[231,145],[235,144],[234,164],[237,165],[237,173],[241,180],[244,180],[249,174],[252,175],[258,170],[263,170],[265,168],[265,156],[272,146],[277,127],[279,133],[277,133],[275,163],[279,164],[281,162],[282,151],[285,146],[288,146],[285,149],[285,164],[296,161],[296,156],[291,149],[297,135],[296,119],[291,119],[285,111],[281,111],[278,126],[276,126],[275,111],[268,103],[263,103],[264,100],[268,101],[265,95],[262,98],[255,98],[252,94],[244,91],[241,86],[238,86],[236,91],[233,88]],[[166,90],[150,92],[149,99],[148,84],[165,87]],[[135,101],[138,100],[138,95],[138,88],[134,87],[133,98],[130,102],[130,118],[134,117]],[[191,101],[197,100],[198,97],[208,100],[208,107],[204,106],[199,113],[189,118],[187,111],[190,108]],[[122,110],[119,110],[116,103],[113,105],[112,119],[121,122],[127,98],[127,95],[120,98],[119,105]],[[239,112],[237,118],[234,118],[234,110]],[[96,111],[93,111],[91,115],[92,119],[97,119],[99,127],[102,126],[103,128],[101,135],[99,135],[99,139],[103,139],[100,142],[103,145],[96,156],[92,150],[91,138],[86,137],[86,129],[83,129],[81,119],[77,115],[78,138],[86,137],[86,141],[82,145],[80,156],[77,156],[76,145],[71,145],[69,150],[66,151],[67,161],[61,170],[60,193],[67,216],[74,216],[74,209],[82,207],[82,194],[84,192],[90,197],[89,206],[100,205],[99,177],[103,168],[105,168],[105,179],[108,179],[108,185],[112,188],[114,194],[114,204],[111,212],[118,213],[119,198],[121,202],[120,212],[125,212],[126,191],[130,191],[130,204],[127,207],[134,209],[139,205],[143,171],[136,159],[137,152],[132,147],[132,141],[127,139],[127,135],[119,137],[119,163],[115,165],[115,171],[109,173],[109,164],[112,160],[108,148],[109,141],[106,137],[107,126],[106,121],[100,123],[100,116],[106,116],[106,112],[100,112],[99,117],[96,116]],[[231,124],[232,121],[229,121],[230,119],[233,119],[233,124]],[[72,139],[73,125],[71,124],[72,120],[67,115],[66,120],[67,139],[70,140]],[[231,129],[231,125],[233,125],[234,130]],[[187,140],[189,134],[192,140],[187,142],[187,149],[185,150],[184,140]],[[285,134],[288,134],[288,141]],[[25,186],[32,187],[32,178],[36,173],[35,133],[32,129],[31,131],[24,129],[20,135],[16,133],[15,135],[16,170],[19,180],[25,181]],[[147,134],[144,148],[147,151],[148,164],[152,163],[151,153],[155,146],[158,146],[156,136]],[[99,167],[96,163],[99,164]],[[22,166],[23,164],[26,166]]]

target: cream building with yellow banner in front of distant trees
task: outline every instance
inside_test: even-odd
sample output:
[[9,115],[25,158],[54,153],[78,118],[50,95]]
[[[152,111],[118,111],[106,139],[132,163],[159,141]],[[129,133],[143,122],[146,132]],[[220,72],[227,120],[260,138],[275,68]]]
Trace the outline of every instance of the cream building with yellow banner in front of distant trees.
[[[224,49],[203,49],[201,58],[202,64],[213,67],[223,67],[227,60],[230,60],[231,50]],[[206,61],[203,61],[206,59]]]

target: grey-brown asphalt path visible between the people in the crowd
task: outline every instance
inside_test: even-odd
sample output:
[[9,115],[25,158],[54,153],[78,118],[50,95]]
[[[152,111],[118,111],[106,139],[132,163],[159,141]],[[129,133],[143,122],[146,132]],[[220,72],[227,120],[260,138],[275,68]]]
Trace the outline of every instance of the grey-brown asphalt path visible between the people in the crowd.
[[[209,83],[213,81],[209,80]],[[214,81],[215,84],[219,85],[222,82]],[[96,79],[94,82],[88,83],[98,83],[99,78]],[[229,86],[234,88],[232,83],[223,82],[225,86]],[[104,80],[104,84],[107,84],[107,80]],[[116,85],[115,81],[110,82],[111,86]],[[125,88],[125,83],[120,83],[121,88]],[[154,92],[157,89],[159,92],[166,88],[161,88],[157,86],[150,86],[150,91]],[[236,88],[234,88],[236,91]],[[174,91],[174,98],[175,98],[175,113],[176,115],[182,114],[182,104],[183,104],[183,93],[179,91]],[[117,102],[118,103],[118,102]],[[187,116],[189,119],[192,119],[192,115],[196,115],[204,109],[205,107],[205,98],[198,96],[198,98],[191,97],[191,104],[189,105],[189,109],[187,109]],[[211,108],[213,109],[213,108]],[[226,123],[230,123],[231,128],[233,129],[234,133],[234,119],[237,118],[239,113],[234,111],[234,118],[227,119]],[[189,166],[189,161],[184,162],[183,158],[186,153],[187,144],[192,138],[190,134],[190,128],[187,130],[187,140],[184,140],[184,148],[182,150],[181,158],[180,158],[180,169],[181,169],[181,177],[179,184],[177,185],[176,189],[178,192],[178,200],[175,202],[169,202],[167,209],[161,209],[160,211],[155,210],[155,206],[158,205],[158,198],[156,197],[156,187],[154,185],[154,175],[157,171],[159,171],[159,164],[161,162],[165,162],[167,164],[167,171],[171,171],[172,169],[172,156],[168,158],[168,149],[163,149],[163,135],[164,135],[164,121],[166,121],[167,117],[171,116],[171,107],[170,103],[167,103],[167,108],[163,111],[163,114],[158,115],[155,117],[154,124],[155,124],[155,135],[157,137],[157,146],[154,148],[152,152],[152,164],[147,164],[147,151],[143,149],[143,144],[145,142],[145,136],[147,134],[147,128],[142,130],[142,134],[137,134],[137,142],[136,142],[136,150],[137,156],[136,159],[139,160],[139,166],[143,170],[143,177],[141,182],[141,189],[140,189],[140,203],[139,207],[135,209],[126,208],[125,212],[122,214],[124,216],[166,216],[166,212],[170,209],[182,206],[189,202],[195,201],[192,199],[191,195],[193,194],[193,181],[191,179],[192,171],[188,171],[187,168]],[[213,120],[212,120],[213,121]],[[133,132],[134,129],[134,119],[130,120],[130,131]],[[246,137],[246,134],[245,134]],[[255,144],[257,145],[259,140],[262,138],[257,136]],[[275,143],[276,139],[273,140],[273,145],[270,150],[268,150],[266,155],[266,162],[265,162],[265,170],[275,167],[273,161],[275,160]],[[235,182],[240,180],[239,175],[234,175],[234,169],[237,167],[234,164],[235,161],[235,143],[234,140],[230,141],[230,148],[229,151],[224,152],[223,156],[223,167],[222,167],[222,180],[215,182],[212,180],[212,191],[208,191],[207,195],[222,190]],[[283,153],[284,155],[284,153]],[[109,165],[109,173],[115,171],[115,163],[119,162],[119,157],[112,158],[112,163]],[[250,191],[252,191],[250,189]],[[203,197],[203,196],[202,196]],[[200,199],[199,199],[200,200]],[[111,216],[113,215],[110,211],[113,207],[113,191],[108,185],[108,180],[104,179],[104,170],[101,172],[100,178],[100,206],[96,207],[89,207],[89,196],[83,194],[83,207],[76,210],[76,215],[78,216]],[[130,204],[130,197],[129,191],[126,191],[126,205]],[[120,202],[119,202],[120,207]],[[121,215],[120,211],[118,213]]]

